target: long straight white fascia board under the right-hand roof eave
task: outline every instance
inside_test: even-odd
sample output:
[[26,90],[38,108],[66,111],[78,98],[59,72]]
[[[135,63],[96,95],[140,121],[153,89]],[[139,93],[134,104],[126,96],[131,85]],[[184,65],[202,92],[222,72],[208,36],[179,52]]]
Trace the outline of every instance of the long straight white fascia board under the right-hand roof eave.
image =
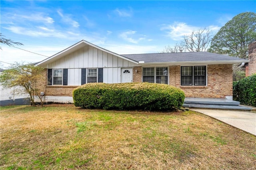
[[235,64],[235,63],[248,63],[250,60],[222,60],[222,61],[178,61],[178,62],[150,62],[150,63],[139,63],[139,65],[188,65],[188,64]]

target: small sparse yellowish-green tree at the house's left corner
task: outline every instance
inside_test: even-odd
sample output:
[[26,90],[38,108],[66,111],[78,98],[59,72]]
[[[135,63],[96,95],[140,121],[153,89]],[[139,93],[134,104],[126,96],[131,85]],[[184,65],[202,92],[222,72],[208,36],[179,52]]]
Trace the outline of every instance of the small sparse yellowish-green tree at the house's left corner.
[[45,96],[40,96],[40,89],[38,89],[38,83],[43,76],[42,71],[43,68],[39,66],[15,63],[9,69],[2,71],[0,83],[4,88],[23,87],[24,91],[22,92],[30,95],[32,105],[36,105],[35,96],[40,99],[40,103],[43,105]]

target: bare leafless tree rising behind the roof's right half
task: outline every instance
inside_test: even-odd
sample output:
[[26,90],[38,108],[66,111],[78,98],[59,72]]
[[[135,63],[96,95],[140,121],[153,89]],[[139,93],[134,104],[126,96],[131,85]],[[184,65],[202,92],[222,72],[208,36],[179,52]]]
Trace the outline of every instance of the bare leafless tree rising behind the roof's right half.
[[190,35],[184,36],[182,45],[190,52],[206,51],[213,37],[213,32],[209,28],[200,28]]

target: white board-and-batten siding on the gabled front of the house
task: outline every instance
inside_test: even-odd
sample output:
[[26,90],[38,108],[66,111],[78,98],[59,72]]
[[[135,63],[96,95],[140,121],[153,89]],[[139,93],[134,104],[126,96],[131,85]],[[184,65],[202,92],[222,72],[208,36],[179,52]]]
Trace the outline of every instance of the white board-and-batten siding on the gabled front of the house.
[[47,64],[48,69],[68,69],[68,85],[81,85],[82,68],[103,68],[104,83],[121,83],[121,68],[134,66],[138,65],[90,45]]

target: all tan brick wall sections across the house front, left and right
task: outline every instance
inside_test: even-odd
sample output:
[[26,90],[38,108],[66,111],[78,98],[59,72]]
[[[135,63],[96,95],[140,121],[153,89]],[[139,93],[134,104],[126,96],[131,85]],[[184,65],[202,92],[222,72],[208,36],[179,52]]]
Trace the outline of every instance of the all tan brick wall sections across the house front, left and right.
[[[137,72],[136,72],[137,70]],[[44,82],[39,87],[47,96],[70,96],[78,86],[45,85],[47,69],[44,70]],[[133,67],[133,82],[142,82],[142,67]],[[169,84],[184,91],[186,97],[224,98],[232,96],[232,64],[208,65],[207,86],[180,86],[180,65],[169,66]],[[46,87],[46,90],[45,90]]]

